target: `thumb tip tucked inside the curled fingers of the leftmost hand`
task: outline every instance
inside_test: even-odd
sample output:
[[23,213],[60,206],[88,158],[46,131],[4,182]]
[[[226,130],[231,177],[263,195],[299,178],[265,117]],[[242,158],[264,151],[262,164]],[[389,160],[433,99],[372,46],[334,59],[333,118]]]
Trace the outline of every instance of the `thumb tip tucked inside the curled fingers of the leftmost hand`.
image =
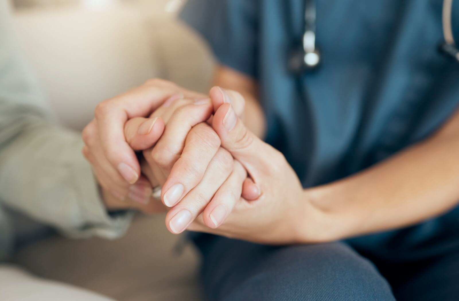
[[124,125],[124,137],[134,151],[145,151],[156,144],[164,131],[161,118],[134,117]]

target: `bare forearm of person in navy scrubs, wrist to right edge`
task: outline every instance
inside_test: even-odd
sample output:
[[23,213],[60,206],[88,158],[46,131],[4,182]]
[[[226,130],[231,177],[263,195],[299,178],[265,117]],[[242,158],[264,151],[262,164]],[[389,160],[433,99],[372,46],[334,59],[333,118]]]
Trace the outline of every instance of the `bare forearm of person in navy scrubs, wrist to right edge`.
[[325,212],[327,240],[409,226],[457,206],[458,120],[368,170],[306,190]]

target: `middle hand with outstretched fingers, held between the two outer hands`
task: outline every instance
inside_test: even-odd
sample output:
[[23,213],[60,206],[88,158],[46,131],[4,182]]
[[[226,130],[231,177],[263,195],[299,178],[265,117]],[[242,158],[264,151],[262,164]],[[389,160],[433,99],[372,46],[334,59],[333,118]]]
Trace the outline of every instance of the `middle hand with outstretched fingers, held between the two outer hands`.
[[[216,93],[222,97],[228,95],[220,89]],[[243,111],[240,101],[242,97],[235,103]],[[184,231],[201,213],[208,227],[218,227],[241,196],[246,171],[220,147],[215,131],[203,122],[212,112],[210,99],[174,99],[150,117],[161,118],[166,129],[157,144],[143,152],[146,163],[142,164],[142,173],[154,186],[162,184],[162,201],[172,207],[166,216],[166,225],[172,233]],[[145,118],[129,120],[126,137],[137,133],[142,123],[147,123]],[[253,196],[250,187],[246,194],[249,199],[258,196]]]

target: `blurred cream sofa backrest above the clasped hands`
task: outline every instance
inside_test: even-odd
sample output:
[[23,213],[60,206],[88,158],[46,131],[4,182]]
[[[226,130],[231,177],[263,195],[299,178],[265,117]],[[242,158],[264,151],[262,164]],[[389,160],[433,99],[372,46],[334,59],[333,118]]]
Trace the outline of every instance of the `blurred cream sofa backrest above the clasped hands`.
[[148,78],[210,85],[209,51],[177,20],[185,0],[11,2],[29,63],[66,126],[82,129],[97,103]]

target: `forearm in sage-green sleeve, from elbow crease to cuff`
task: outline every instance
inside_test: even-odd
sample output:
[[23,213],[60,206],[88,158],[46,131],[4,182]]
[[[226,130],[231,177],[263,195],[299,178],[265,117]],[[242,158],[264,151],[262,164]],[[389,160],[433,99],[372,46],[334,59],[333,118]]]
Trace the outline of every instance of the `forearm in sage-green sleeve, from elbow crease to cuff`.
[[2,123],[2,204],[73,237],[123,234],[130,217],[107,215],[79,134],[26,112]]

